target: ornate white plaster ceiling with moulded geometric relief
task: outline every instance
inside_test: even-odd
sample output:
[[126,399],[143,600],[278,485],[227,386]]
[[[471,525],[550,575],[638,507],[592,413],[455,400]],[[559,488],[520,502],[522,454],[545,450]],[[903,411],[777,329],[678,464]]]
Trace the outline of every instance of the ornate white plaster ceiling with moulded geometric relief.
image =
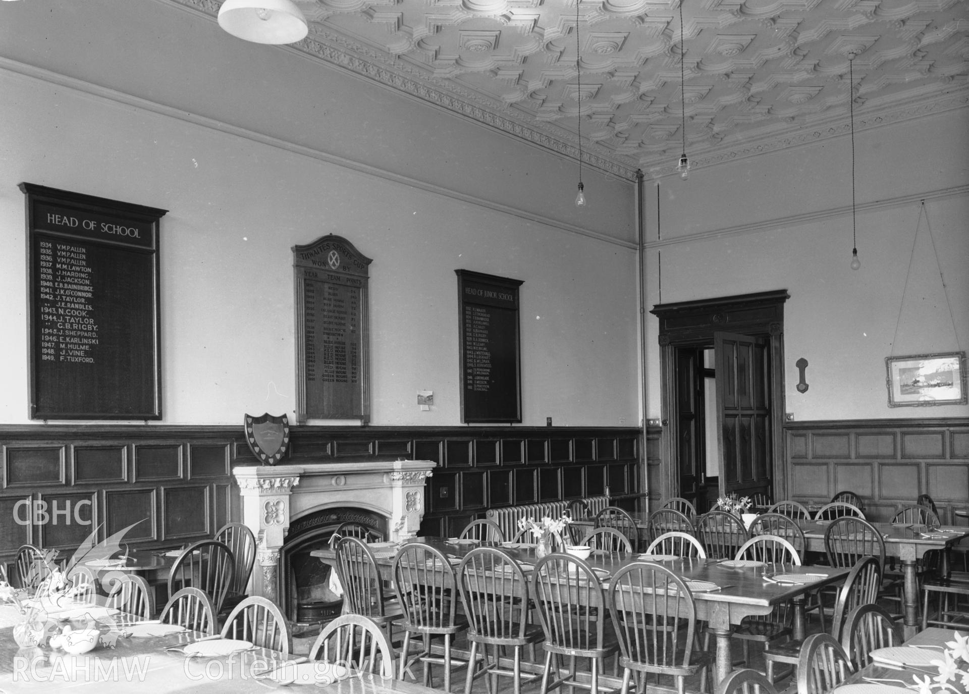
[[576,3],[297,0],[294,47],[622,176],[671,174],[684,115],[697,166],[843,134],[853,53],[856,130],[969,104],[967,0]]

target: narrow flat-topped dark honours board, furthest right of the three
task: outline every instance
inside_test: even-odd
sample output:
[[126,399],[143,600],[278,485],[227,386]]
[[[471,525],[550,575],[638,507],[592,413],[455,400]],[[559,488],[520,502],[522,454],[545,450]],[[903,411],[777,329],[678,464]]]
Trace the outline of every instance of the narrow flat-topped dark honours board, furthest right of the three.
[[460,302],[461,421],[521,422],[516,279],[454,270]]

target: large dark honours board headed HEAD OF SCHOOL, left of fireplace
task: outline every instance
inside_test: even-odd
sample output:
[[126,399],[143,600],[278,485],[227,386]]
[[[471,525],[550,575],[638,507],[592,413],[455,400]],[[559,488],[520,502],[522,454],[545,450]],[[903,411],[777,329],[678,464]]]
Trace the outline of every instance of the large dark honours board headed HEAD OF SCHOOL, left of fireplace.
[[23,183],[30,416],[160,419],[164,209]]

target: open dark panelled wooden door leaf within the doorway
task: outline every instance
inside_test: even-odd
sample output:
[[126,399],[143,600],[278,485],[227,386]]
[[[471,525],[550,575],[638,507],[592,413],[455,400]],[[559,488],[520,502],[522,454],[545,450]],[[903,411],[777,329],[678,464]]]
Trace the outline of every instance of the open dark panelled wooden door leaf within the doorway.
[[767,340],[714,332],[720,489],[737,497],[770,489]]

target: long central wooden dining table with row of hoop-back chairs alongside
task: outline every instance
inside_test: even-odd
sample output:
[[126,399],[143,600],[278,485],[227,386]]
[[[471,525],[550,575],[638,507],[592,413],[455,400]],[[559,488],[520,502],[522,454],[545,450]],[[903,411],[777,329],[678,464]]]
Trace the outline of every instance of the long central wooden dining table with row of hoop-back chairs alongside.
[[[456,566],[461,558],[471,550],[480,546],[477,541],[455,540],[449,541],[440,537],[415,538],[411,542],[422,542],[444,552]],[[393,557],[397,552],[395,547],[378,547],[374,552],[382,577],[392,580]],[[531,570],[538,557],[535,547],[531,545],[503,543],[501,549],[507,551],[522,568]],[[333,565],[335,552],[329,548],[314,550],[311,555],[323,562]],[[609,577],[623,566],[641,557],[638,552],[620,552],[617,554],[593,553],[587,563],[596,573],[602,576],[604,584],[609,583]],[[723,565],[723,561],[677,557],[660,562],[689,582],[703,582],[715,584],[716,589],[709,591],[694,591],[693,597],[697,606],[697,619],[707,622],[716,637],[716,672],[715,679],[719,682],[726,678],[733,669],[731,657],[731,636],[735,626],[744,617],[751,615],[769,615],[775,606],[795,600],[794,636],[804,638],[803,596],[819,587],[840,584],[848,576],[849,569],[832,567],[792,566],[764,568],[732,568]],[[765,574],[794,574],[797,576],[811,575],[808,583],[769,583]],[[608,595],[608,593],[607,593]]]

